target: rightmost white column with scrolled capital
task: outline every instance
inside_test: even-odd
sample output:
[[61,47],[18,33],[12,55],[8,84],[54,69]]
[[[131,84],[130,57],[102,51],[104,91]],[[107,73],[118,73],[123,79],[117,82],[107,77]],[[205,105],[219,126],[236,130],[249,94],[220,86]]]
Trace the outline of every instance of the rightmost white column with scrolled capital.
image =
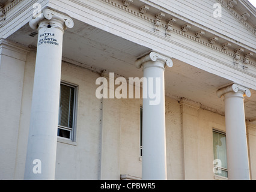
[[244,95],[250,97],[251,92],[233,84],[218,90],[217,95],[225,98],[228,179],[250,179],[243,100]]

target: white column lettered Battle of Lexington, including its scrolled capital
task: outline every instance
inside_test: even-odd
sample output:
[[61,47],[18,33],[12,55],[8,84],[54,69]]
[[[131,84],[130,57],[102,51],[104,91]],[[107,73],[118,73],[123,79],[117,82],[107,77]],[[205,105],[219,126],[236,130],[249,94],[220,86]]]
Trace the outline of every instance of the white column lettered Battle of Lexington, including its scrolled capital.
[[73,21],[45,9],[29,25],[38,44],[24,178],[55,179],[62,37]]

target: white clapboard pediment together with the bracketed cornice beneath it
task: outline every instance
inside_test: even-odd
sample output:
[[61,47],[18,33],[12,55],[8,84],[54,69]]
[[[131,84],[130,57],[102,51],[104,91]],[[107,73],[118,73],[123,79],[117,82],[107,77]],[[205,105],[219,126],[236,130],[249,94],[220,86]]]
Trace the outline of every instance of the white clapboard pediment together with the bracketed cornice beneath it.
[[[166,37],[172,38],[176,32],[231,53],[236,66],[242,59],[245,70],[247,64],[255,66],[256,11],[247,0],[139,0],[131,4],[139,7],[138,2],[148,5],[147,16],[155,16],[154,32],[161,32],[162,26]],[[134,7],[128,5],[129,8]]]

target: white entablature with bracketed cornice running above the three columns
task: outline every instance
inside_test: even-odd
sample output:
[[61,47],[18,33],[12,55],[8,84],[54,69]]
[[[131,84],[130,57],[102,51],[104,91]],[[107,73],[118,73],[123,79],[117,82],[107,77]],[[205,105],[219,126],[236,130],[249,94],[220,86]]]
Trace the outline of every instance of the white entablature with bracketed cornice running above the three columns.
[[[26,18],[31,19],[33,2],[39,1],[29,2],[29,5],[25,4],[23,0],[15,1],[20,1],[18,4],[20,6],[15,5],[20,10],[27,8],[26,12],[29,12],[30,16]],[[43,0],[40,2],[42,8],[46,6],[43,4]],[[255,47],[241,43],[221,32],[213,31],[161,7],[153,1],[70,0],[67,2],[59,0],[58,4],[56,1],[49,1],[47,6],[53,10],[67,13],[74,19],[159,51],[163,55],[175,54],[176,59],[183,57],[183,62],[191,62],[191,65],[202,67],[203,70],[212,72],[217,69],[217,75],[223,74],[225,77],[225,74],[228,74],[233,80],[236,79],[236,77],[233,78],[235,72],[241,76],[237,77],[239,80],[243,80],[241,79],[243,74],[253,77],[253,80],[248,78],[248,81],[256,79]],[[7,11],[7,13],[9,12],[8,14],[13,17],[11,11]],[[15,13],[16,16],[17,14],[19,13]],[[200,59],[204,59],[204,61],[200,61]]]

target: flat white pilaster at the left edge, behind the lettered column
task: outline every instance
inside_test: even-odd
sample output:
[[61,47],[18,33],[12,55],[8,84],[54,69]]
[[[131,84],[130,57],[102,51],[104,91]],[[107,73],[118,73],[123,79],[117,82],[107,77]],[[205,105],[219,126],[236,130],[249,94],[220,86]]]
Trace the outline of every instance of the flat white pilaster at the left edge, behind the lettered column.
[[13,179],[28,50],[5,40],[0,44],[0,179]]

